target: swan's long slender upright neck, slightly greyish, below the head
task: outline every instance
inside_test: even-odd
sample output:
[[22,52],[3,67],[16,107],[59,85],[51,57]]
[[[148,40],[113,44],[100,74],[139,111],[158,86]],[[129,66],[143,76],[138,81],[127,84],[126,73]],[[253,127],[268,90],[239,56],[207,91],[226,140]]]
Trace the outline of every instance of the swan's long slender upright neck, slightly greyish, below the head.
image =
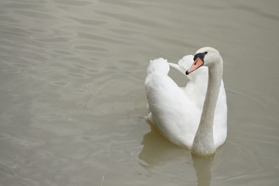
[[212,155],[216,150],[213,141],[213,119],[223,75],[222,59],[219,62],[209,67],[209,82],[204,107],[191,149],[197,155]]

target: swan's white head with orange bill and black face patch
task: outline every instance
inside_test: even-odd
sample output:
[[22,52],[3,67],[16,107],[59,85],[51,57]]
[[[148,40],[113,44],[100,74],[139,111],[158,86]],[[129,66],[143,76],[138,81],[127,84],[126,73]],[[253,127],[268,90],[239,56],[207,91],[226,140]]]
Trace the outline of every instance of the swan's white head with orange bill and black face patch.
[[220,58],[221,56],[217,49],[213,49],[212,47],[202,47],[197,50],[193,59],[193,65],[186,71],[186,75],[203,65],[210,67],[211,65],[219,63]]

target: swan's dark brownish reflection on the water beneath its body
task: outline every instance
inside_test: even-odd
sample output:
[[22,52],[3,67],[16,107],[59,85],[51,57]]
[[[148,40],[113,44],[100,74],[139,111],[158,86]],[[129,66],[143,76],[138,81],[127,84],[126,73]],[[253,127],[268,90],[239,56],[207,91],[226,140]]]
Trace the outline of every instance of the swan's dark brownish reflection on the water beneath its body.
[[211,157],[190,155],[188,150],[182,150],[164,139],[153,126],[151,132],[144,134],[142,145],[139,158],[142,160],[140,164],[145,169],[153,172],[156,167],[167,167],[166,164],[169,162],[181,162],[188,166],[188,169],[195,169],[197,185],[210,185],[214,155]]

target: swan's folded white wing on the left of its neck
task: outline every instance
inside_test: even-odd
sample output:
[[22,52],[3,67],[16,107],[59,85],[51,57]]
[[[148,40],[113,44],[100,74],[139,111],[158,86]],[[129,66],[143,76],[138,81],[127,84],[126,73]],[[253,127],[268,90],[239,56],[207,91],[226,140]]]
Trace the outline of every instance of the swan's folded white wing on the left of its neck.
[[167,66],[165,59],[156,59],[147,68],[145,88],[152,123],[174,144],[190,148],[199,123],[199,111],[167,76]]

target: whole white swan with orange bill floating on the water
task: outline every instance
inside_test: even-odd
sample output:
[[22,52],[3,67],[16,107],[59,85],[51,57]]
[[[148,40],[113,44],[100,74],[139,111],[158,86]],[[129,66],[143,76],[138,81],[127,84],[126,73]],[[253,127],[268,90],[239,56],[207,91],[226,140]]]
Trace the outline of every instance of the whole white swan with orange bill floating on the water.
[[[190,79],[185,88],[168,76],[169,66]],[[146,73],[145,91],[151,111],[146,121],[169,141],[196,155],[215,153],[227,138],[227,98],[218,50],[203,47],[195,56],[183,57],[179,65],[156,59],[150,61]]]

